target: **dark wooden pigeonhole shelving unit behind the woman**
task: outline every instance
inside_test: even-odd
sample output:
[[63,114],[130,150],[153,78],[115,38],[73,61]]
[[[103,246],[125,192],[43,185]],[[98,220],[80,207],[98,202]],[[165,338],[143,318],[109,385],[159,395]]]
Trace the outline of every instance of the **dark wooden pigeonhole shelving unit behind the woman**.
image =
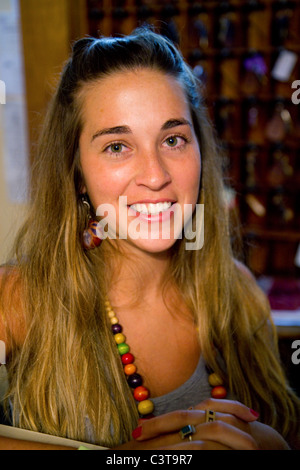
[[[298,275],[300,105],[291,85],[300,79],[300,2],[87,0],[87,10],[93,36],[151,23],[180,46],[204,85],[246,263],[257,276]],[[285,81],[274,78],[290,53]]]

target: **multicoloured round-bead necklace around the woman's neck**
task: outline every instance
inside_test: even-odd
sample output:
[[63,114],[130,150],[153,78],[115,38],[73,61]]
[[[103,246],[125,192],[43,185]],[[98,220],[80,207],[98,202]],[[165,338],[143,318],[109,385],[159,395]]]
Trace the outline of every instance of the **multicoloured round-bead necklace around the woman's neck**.
[[[141,417],[150,418],[153,416],[154,403],[149,398],[149,390],[143,386],[143,379],[140,374],[137,373],[137,368],[134,364],[134,356],[130,352],[130,347],[126,343],[126,337],[123,334],[123,328],[119,323],[119,320],[110,305],[109,300],[105,301],[105,310],[107,312],[111,330],[114,335],[114,340],[117,344],[123,370],[127,378],[129,387],[133,390],[133,397],[137,401],[137,409]],[[225,398],[227,390],[223,385],[223,381],[219,375],[212,372],[208,376],[209,384],[212,387],[211,396],[212,398]]]

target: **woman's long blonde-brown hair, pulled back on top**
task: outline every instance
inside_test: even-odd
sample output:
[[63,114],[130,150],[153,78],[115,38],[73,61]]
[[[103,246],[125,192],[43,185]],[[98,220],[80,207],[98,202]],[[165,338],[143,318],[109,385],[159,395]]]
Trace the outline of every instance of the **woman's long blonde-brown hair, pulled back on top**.
[[[265,423],[292,434],[297,399],[279,365],[266,299],[233,260],[220,159],[199,84],[177,48],[149,29],[76,42],[50,105],[32,169],[30,213],[15,243],[18,287],[10,289],[11,305],[3,306],[6,315],[22,316],[26,332],[9,358],[13,423],[79,440],[92,430],[105,446],[130,439],[137,424],[104,312],[105,259],[101,247],[86,252],[81,243],[78,97],[86,83],[139,67],[180,80],[201,148],[205,243],[186,251],[185,240],[178,240],[169,276],[194,312],[208,366]],[[22,309],[13,312],[18,292]]]

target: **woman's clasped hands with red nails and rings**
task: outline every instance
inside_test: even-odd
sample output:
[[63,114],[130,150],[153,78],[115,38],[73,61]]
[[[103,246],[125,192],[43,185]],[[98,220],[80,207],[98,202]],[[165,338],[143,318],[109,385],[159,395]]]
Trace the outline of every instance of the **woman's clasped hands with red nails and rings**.
[[[215,421],[205,422],[206,410],[215,411]],[[251,434],[250,423],[255,422],[257,417],[257,413],[241,403],[209,399],[190,410],[141,420],[133,432],[134,439],[118,449],[256,450],[259,445]],[[195,428],[192,440],[182,440],[179,434],[181,428],[187,425]]]

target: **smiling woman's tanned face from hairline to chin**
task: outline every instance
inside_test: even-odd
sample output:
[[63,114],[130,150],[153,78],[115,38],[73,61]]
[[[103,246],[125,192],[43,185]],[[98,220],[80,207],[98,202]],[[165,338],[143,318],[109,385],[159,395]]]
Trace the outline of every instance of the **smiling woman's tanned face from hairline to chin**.
[[115,72],[86,86],[82,99],[80,162],[95,211],[111,238],[168,250],[185,208],[196,206],[201,171],[181,85],[150,69]]

